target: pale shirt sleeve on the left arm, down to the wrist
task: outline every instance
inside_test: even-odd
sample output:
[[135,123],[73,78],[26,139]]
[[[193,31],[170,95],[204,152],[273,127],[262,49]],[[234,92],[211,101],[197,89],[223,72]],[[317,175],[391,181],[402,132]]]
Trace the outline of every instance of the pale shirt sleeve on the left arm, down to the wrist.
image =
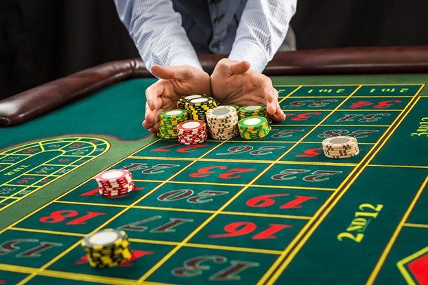
[[170,0],[114,0],[123,25],[150,71],[154,64],[202,69]]

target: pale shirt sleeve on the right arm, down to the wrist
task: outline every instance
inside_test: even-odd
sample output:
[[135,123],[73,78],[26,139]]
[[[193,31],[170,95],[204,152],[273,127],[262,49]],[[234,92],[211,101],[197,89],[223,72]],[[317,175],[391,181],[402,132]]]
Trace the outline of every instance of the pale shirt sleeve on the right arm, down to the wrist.
[[247,60],[262,72],[281,47],[297,0],[248,0],[229,58]]

